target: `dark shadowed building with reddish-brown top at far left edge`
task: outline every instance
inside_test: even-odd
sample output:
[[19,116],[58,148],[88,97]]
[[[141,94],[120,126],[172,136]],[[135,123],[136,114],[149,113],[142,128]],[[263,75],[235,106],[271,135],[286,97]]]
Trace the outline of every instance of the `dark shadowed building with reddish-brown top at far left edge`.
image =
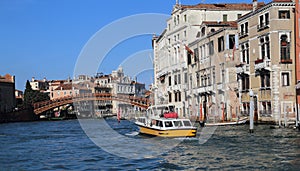
[[0,113],[11,112],[15,107],[15,76],[0,76]]

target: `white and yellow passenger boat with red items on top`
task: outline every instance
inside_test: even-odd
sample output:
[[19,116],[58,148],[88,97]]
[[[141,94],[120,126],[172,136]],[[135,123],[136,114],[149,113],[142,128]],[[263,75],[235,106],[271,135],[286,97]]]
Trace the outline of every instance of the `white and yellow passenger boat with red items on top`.
[[[160,108],[162,109],[162,108]],[[135,124],[140,128],[140,134],[158,137],[195,137],[197,127],[189,119],[178,118],[178,114],[170,108],[159,110],[151,107],[147,110],[147,117],[139,117]]]

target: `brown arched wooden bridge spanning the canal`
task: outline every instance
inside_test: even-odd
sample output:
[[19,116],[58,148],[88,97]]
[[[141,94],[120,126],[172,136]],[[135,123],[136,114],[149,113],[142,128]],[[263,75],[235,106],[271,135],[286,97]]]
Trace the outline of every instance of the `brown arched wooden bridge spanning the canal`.
[[150,100],[142,97],[134,97],[129,95],[114,95],[110,93],[87,93],[75,96],[66,96],[55,100],[37,102],[33,104],[34,113],[39,115],[48,110],[81,101],[120,101],[128,103],[137,107],[147,109],[150,104]]

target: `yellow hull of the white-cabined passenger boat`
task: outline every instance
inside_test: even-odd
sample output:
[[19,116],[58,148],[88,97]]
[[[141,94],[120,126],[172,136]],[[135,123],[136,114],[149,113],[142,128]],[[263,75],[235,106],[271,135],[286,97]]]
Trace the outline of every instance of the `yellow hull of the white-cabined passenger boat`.
[[151,136],[158,136],[158,137],[195,137],[197,133],[197,128],[184,128],[184,129],[155,129],[147,126],[141,126],[140,133],[151,135]]

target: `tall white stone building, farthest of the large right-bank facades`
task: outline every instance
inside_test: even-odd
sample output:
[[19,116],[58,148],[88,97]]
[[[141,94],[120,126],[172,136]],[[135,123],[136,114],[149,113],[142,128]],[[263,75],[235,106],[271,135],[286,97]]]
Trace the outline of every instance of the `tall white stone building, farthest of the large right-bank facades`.
[[[262,3],[259,3],[262,5]],[[154,49],[154,86],[156,104],[174,105],[179,116],[199,116],[200,104],[193,97],[192,83],[196,82],[188,67],[188,46],[198,39],[204,21],[235,21],[252,10],[252,4],[197,4],[173,7],[167,28],[152,39]],[[213,31],[213,30],[210,30]],[[208,49],[208,44],[205,47]],[[197,53],[197,52],[196,52]],[[193,54],[196,54],[193,52]],[[209,56],[209,51],[205,52]],[[197,54],[198,55],[198,54]],[[194,73],[195,74],[195,73]],[[197,96],[197,92],[196,96]]]

